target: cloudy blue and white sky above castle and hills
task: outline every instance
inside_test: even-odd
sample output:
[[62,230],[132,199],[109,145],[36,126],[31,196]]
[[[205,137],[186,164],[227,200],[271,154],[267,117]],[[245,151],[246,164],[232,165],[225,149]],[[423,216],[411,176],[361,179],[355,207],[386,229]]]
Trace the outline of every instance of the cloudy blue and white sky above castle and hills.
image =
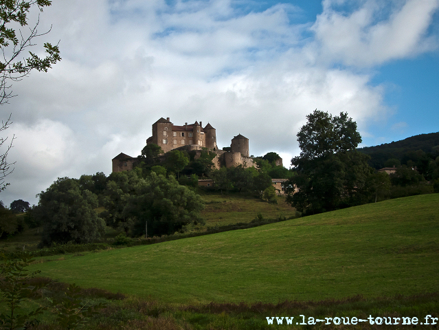
[[48,30],[32,52],[59,42],[62,61],[0,107],[15,137],[5,206],[38,203],[58,177],[109,175],[161,117],[209,122],[220,148],[242,134],[287,168],[315,109],[347,112],[360,146],[439,131],[439,0],[54,0]]

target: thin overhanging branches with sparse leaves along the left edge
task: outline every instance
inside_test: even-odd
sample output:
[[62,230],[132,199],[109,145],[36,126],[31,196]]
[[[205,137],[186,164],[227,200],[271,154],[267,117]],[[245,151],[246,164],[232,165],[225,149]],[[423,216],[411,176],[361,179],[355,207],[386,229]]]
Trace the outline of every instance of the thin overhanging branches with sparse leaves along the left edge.
[[[50,0],[8,0],[0,1],[0,50],[2,58],[0,58],[0,105],[8,102],[12,95],[12,83],[28,76],[32,70],[47,72],[47,69],[53,64],[60,61],[58,45],[45,43],[44,48],[47,56],[41,58],[36,54],[29,52],[27,58],[19,58],[22,52],[34,46],[34,39],[47,34],[47,32],[39,33],[38,20],[33,28],[29,28],[27,33],[21,28],[28,25],[27,15],[32,7],[38,8],[43,12],[43,8],[51,5]],[[11,115],[8,120],[1,122],[0,131],[8,129],[12,124]],[[14,136],[8,141],[8,137],[0,137],[0,147],[5,146],[6,150],[0,155],[0,191],[5,189],[8,184],[4,183],[4,178],[12,173],[12,164],[7,160],[8,151],[12,148]]]

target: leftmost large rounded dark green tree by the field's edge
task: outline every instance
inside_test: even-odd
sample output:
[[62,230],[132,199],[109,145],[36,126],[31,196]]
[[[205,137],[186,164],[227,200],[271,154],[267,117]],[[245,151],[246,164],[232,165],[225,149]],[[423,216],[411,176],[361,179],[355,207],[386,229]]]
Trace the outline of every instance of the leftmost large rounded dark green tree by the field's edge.
[[38,217],[43,220],[42,245],[52,243],[89,243],[104,233],[104,221],[95,208],[98,198],[81,191],[78,180],[58,178],[39,194]]

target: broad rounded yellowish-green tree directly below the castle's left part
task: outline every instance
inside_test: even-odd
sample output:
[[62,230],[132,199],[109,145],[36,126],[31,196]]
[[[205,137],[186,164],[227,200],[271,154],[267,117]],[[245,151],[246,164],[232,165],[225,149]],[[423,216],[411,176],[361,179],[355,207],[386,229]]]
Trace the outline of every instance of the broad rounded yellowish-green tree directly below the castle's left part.
[[175,177],[153,172],[139,179],[124,214],[133,219],[133,234],[145,234],[147,224],[148,235],[161,236],[173,234],[189,223],[203,223],[199,214],[203,208],[201,197],[179,185]]

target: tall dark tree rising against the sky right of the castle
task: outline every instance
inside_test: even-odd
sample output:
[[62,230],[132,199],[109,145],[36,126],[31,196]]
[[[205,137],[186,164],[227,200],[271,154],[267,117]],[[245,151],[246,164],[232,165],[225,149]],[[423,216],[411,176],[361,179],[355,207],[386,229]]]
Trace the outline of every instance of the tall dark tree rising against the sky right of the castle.
[[291,159],[296,175],[286,200],[300,212],[313,213],[362,203],[372,168],[368,156],[355,150],[361,142],[357,123],[347,113],[333,117],[317,110],[306,118],[297,133],[301,152]]

